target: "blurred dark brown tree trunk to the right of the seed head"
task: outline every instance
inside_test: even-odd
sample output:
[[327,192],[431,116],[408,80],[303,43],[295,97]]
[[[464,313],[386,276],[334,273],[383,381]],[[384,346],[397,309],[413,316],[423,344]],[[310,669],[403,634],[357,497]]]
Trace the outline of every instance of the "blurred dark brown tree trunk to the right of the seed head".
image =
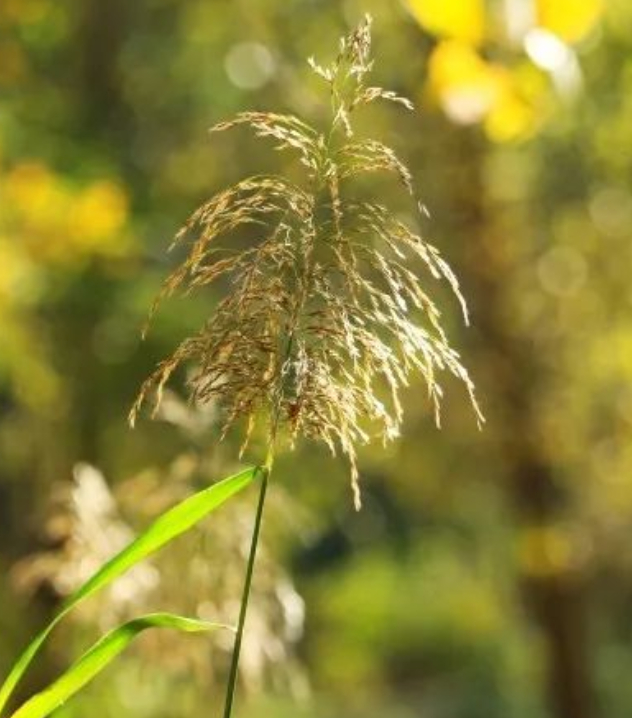
[[[482,182],[483,148],[467,132],[452,135],[456,152],[453,179],[467,263],[461,275],[470,284],[474,322],[481,336],[483,361],[491,364],[496,405],[488,417],[500,437],[506,467],[507,493],[517,530],[534,532],[554,526],[570,497],[555,479],[553,467],[537,441],[536,407],[539,378],[545,371],[529,337],[520,336],[506,309],[505,287],[515,268],[511,243],[520,227],[496,231],[486,206]],[[444,148],[445,149],[445,148]],[[459,162],[459,157],[467,157]],[[478,157],[480,161],[476,161]],[[522,260],[524,261],[524,260]],[[484,389],[483,389],[484,391]],[[492,395],[490,390],[489,395]],[[521,567],[522,568],[522,567]],[[555,718],[594,718],[588,661],[584,585],[568,568],[533,574],[523,569],[520,591],[546,645],[548,700]]]

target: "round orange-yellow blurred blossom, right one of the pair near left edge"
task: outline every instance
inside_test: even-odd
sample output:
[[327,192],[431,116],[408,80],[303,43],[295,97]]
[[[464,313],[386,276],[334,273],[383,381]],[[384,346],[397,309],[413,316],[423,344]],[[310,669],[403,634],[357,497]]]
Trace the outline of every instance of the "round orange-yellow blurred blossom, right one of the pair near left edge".
[[95,182],[75,200],[71,217],[73,236],[86,245],[112,239],[123,228],[127,215],[123,189],[113,182]]

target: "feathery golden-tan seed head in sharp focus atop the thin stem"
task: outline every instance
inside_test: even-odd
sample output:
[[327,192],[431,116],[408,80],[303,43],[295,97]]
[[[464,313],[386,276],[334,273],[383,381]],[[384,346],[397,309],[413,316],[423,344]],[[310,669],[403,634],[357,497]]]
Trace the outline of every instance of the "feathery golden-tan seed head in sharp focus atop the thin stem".
[[[423,375],[439,423],[439,375],[460,379],[478,420],[474,386],[440,322],[440,312],[414,271],[444,279],[467,309],[456,277],[439,251],[387,207],[353,197],[354,180],[393,173],[414,196],[412,176],[393,150],[356,140],[352,113],[386,100],[412,109],[405,98],[365,84],[370,19],[341,41],[329,66],[310,59],[329,85],[331,125],[321,132],[302,120],[243,112],[212,128],[239,125],[297,154],[308,170],[305,186],[281,176],[249,177],[205,202],[178,232],[188,257],[166,280],[155,306],[177,291],[228,279],[230,291],[200,331],[147,379],[130,414],[133,423],[148,395],[160,404],[163,388],[183,363],[195,402],[217,401],[224,432],[247,423],[244,448],[257,420],[274,440],[284,427],[291,441],[308,437],[349,459],[360,505],[356,447],[372,436],[390,441],[402,422],[400,392],[413,371]],[[235,230],[257,228],[246,249],[225,242]]]

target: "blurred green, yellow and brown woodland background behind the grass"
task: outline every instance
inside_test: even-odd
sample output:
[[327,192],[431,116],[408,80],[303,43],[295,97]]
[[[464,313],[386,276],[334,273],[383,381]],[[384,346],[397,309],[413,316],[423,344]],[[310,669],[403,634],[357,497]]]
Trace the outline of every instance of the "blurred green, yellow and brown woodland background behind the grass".
[[[426,234],[462,278],[473,328],[459,344],[488,424],[476,430],[455,386],[437,433],[412,386],[402,441],[362,457],[358,516],[344,466],[310,446],[284,459],[300,520],[269,531],[270,570],[306,601],[296,651],[311,690],[289,690],[272,664],[244,714],[627,717],[627,0],[0,4],[0,667],[63,593],[59,577],[35,594],[20,579],[25,557],[64,549],[47,528],[51,496],[78,462],[123,500],[143,471],[167,484],[194,456],[195,485],[235,454],[215,446],[212,422],[192,436],[186,412],[127,429],[141,377],[212,298],[172,303],[140,344],[145,308],[177,259],[164,249],[181,218],[270,161],[245,135],[210,142],[207,127],[246,107],[318,121],[327,108],[304,58],[326,59],[366,11],[377,83],[418,109],[376,108],[365,127],[409,161]],[[457,335],[456,307],[450,319]],[[151,492],[131,495],[122,510],[140,525]],[[158,567],[161,595],[187,582],[192,556],[223,561],[202,544]],[[264,593],[275,585],[262,579]],[[213,600],[189,593],[192,606]],[[40,679],[86,630],[60,633]],[[204,676],[161,693],[142,668],[150,650],[60,714],[219,710]]]

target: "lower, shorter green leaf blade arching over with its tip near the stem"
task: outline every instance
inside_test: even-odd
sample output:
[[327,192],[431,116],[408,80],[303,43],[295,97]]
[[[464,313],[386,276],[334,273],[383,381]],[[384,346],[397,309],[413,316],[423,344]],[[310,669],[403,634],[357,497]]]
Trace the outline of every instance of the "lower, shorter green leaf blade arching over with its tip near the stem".
[[170,613],[152,613],[124,623],[103,636],[54,683],[18,708],[12,718],[46,718],[101,673],[139,633],[148,628],[173,628],[187,633],[199,633],[227,626]]

